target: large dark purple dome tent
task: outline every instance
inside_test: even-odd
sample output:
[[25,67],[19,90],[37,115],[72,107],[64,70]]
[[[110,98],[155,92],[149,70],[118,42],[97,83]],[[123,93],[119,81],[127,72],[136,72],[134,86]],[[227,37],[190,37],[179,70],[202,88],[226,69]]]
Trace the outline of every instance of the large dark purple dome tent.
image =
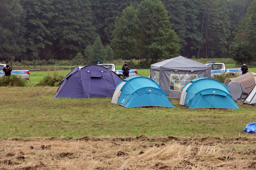
[[112,97],[115,87],[122,81],[106,67],[89,65],[75,67],[63,80],[54,98]]

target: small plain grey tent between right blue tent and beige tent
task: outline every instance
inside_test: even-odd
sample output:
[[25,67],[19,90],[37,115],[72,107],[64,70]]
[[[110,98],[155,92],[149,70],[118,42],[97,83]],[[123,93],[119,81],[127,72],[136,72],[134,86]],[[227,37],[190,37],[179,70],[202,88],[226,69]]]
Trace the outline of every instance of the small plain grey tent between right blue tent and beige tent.
[[231,81],[226,86],[229,89],[230,95],[236,102],[244,101],[247,95],[249,95],[249,92],[247,92],[244,87],[236,81]]

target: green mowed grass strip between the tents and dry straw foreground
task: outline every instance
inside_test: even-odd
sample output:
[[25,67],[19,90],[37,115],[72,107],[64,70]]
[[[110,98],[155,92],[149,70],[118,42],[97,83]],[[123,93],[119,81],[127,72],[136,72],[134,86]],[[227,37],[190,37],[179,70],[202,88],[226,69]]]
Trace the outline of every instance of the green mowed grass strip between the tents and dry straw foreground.
[[111,98],[55,99],[57,88],[0,87],[0,138],[251,136],[242,131],[256,120],[256,108],[242,103],[241,109],[188,109],[172,99],[176,108],[124,108]]

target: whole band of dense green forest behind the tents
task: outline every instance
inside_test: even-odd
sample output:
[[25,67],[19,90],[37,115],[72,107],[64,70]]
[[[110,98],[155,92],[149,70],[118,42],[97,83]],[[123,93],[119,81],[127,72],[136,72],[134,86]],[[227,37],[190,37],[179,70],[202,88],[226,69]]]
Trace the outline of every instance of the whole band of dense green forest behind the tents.
[[0,0],[0,61],[256,55],[256,0]]

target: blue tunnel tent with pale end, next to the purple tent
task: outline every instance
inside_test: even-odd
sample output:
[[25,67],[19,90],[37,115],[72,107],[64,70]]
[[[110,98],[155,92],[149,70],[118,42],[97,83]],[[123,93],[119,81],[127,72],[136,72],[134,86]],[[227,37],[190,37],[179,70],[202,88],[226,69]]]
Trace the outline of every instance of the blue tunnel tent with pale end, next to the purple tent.
[[154,80],[141,76],[132,76],[120,82],[111,103],[123,107],[174,107]]

